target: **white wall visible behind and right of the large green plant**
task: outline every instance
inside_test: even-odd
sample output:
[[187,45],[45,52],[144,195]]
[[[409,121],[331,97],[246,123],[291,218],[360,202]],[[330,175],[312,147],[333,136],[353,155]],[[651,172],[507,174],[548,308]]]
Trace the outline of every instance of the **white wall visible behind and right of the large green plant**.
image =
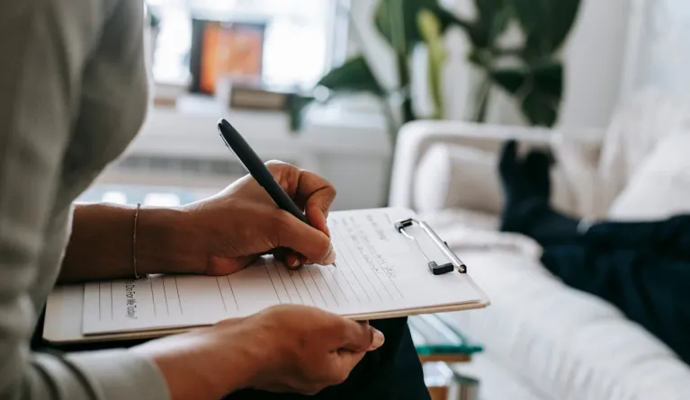
[[[559,1],[559,0],[553,0]],[[372,26],[372,11],[378,0],[352,0],[354,22],[363,31],[366,55],[383,82],[393,84],[397,76],[392,54]],[[446,0],[458,13],[472,12],[473,0]],[[618,102],[627,37],[630,0],[582,0],[578,20],[563,49],[566,62],[565,96],[560,126],[605,127]],[[446,113],[453,120],[470,115],[480,75],[465,60],[469,44],[461,34],[449,39],[449,67],[445,73]],[[419,76],[424,77],[424,74]],[[423,84],[423,83],[422,83]],[[503,93],[492,93],[488,121],[524,124],[519,110]],[[428,109],[422,98],[420,107]]]

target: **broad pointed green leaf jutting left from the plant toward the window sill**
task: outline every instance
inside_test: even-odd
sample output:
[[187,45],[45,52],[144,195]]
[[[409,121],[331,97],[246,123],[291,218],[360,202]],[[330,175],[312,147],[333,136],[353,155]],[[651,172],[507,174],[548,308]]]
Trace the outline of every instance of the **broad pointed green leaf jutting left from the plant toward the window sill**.
[[373,76],[363,56],[350,58],[340,67],[331,69],[319,81],[318,85],[326,86],[336,92],[369,92],[377,96],[385,95],[386,91]]

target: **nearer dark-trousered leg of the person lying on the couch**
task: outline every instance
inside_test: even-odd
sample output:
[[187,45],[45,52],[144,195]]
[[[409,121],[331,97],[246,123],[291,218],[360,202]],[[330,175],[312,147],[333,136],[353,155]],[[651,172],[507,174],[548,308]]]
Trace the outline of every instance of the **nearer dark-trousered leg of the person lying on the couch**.
[[690,262],[637,249],[587,244],[544,248],[544,266],[564,283],[618,307],[690,363]]

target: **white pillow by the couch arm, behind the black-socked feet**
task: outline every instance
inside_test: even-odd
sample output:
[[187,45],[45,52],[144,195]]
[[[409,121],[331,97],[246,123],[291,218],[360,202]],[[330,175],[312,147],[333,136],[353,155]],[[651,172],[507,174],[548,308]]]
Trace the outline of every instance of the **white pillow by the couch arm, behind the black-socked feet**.
[[[521,148],[524,153],[526,148]],[[422,156],[415,175],[414,204],[421,212],[471,209],[498,214],[503,189],[498,156],[476,147],[437,143]],[[556,209],[573,212],[575,200],[563,168],[551,173],[551,202]]]

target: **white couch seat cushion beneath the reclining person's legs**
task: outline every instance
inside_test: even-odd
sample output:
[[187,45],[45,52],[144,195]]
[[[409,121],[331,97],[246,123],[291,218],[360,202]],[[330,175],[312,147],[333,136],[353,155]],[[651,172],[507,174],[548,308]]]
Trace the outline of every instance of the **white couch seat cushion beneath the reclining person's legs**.
[[533,257],[458,254],[491,306],[444,318],[531,387],[560,400],[687,398],[690,368],[615,307],[565,286]]

